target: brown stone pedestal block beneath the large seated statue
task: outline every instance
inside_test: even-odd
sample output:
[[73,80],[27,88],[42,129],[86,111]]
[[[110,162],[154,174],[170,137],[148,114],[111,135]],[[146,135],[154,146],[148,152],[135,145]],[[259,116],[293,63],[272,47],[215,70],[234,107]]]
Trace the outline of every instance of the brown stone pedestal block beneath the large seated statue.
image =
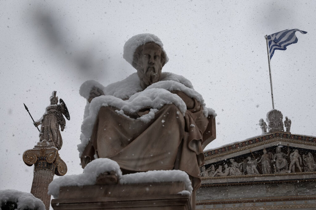
[[180,195],[183,182],[112,184],[61,187],[58,199],[52,200],[54,210],[192,210],[190,195]]

